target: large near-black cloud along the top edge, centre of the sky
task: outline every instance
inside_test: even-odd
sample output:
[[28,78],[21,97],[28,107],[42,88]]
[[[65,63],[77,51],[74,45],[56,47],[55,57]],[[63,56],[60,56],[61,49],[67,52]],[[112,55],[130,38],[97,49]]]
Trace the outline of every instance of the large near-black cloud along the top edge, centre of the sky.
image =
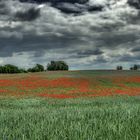
[[80,14],[86,11],[102,11],[102,5],[90,5],[89,0],[20,0],[21,2],[31,3],[51,3],[52,7],[55,7],[67,14]]

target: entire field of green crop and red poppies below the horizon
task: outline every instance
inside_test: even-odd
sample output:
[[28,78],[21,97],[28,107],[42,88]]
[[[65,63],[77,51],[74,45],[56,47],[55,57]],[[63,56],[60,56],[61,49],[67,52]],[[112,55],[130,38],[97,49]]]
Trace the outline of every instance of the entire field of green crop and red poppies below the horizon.
[[140,71],[0,75],[0,140],[140,140]]

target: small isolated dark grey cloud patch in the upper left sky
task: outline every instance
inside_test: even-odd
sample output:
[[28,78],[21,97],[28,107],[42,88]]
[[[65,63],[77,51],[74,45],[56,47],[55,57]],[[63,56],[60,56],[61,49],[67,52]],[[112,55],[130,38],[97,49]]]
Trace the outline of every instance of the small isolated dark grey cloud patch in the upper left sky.
[[37,19],[40,16],[40,10],[31,8],[27,11],[17,11],[15,18],[20,21],[32,21]]

